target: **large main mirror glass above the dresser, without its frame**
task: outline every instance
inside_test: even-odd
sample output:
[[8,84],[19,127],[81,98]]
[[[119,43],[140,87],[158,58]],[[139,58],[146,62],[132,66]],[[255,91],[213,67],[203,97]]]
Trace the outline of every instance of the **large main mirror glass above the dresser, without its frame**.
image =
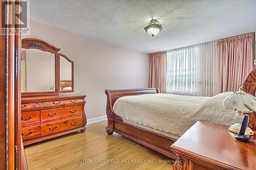
[[55,91],[55,54],[22,48],[21,90]]

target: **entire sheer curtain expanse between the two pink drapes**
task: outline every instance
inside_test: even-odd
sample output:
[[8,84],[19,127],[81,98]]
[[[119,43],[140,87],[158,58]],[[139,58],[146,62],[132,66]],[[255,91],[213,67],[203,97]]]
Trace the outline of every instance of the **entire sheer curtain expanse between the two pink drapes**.
[[217,80],[216,41],[167,51],[167,93],[213,96]]

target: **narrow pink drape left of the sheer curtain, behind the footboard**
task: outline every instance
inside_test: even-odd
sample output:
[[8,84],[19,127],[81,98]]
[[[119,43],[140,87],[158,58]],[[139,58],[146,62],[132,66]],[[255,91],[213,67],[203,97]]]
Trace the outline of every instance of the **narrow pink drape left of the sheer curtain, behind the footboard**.
[[166,92],[166,52],[158,52],[149,55],[150,77],[148,86],[158,87],[161,93]]

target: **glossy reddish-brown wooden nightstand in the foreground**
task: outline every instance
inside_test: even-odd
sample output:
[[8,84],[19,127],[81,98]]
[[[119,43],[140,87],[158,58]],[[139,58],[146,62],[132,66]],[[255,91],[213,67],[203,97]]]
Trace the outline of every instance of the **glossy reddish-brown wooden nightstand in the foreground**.
[[178,156],[173,169],[256,169],[255,135],[247,143],[227,126],[198,121],[170,148]]

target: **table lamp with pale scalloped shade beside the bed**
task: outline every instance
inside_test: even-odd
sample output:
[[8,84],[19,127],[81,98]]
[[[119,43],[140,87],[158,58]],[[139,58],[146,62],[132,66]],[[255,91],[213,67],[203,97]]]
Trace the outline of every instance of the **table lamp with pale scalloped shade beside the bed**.
[[[234,117],[238,123],[231,125],[228,130],[230,132],[239,133],[244,113],[256,111],[256,98],[255,96],[243,91],[243,86],[240,86],[239,91],[227,96],[223,101],[222,107],[238,111],[238,114]],[[251,128],[247,127],[245,135],[254,135],[254,133]]]

